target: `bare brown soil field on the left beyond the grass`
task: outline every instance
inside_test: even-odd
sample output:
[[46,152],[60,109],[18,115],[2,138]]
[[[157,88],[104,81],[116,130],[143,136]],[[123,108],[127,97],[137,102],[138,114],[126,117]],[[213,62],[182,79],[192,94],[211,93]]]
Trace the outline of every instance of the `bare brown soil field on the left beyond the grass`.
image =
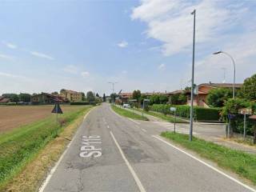
[[[84,106],[61,106],[63,113]],[[0,106],[0,134],[30,122],[36,122],[51,114],[53,105],[47,106]]]

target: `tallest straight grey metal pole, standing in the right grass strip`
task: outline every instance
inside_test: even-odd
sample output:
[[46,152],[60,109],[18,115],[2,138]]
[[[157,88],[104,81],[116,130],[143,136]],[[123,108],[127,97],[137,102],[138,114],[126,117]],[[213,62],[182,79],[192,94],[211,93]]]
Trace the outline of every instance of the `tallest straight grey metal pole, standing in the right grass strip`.
[[191,78],[191,96],[190,96],[190,142],[193,136],[193,103],[194,103],[194,39],[195,39],[195,12],[194,10],[191,14],[194,14],[194,34],[193,34],[193,55],[192,55],[192,78]]

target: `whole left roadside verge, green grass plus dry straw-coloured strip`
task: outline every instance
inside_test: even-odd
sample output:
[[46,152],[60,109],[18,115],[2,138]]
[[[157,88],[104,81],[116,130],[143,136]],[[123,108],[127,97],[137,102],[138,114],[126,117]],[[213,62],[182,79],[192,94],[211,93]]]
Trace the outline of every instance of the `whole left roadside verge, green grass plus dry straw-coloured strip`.
[[90,107],[54,115],[0,136],[0,191],[36,191]]

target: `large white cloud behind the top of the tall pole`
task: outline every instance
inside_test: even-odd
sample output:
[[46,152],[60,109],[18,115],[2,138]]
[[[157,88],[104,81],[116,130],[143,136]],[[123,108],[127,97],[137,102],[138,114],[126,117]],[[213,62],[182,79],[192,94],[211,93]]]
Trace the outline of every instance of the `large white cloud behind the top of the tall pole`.
[[[132,19],[146,22],[149,38],[162,42],[162,52],[166,55],[178,54],[190,50],[193,34],[192,10],[197,9],[196,41],[210,42],[218,38],[219,33],[228,30],[244,11],[229,10],[219,6],[218,1],[202,0],[196,4],[179,0],[142,0],[135,7]],[[236,14],[234,14],[236,11]]]

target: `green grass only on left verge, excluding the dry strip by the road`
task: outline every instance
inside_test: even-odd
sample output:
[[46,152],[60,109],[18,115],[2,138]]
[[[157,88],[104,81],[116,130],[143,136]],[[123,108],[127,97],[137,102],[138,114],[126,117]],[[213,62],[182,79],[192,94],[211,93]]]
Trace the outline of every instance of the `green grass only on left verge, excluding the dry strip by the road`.
[[62,126],[57,125],[55,115],[38,122],[21,126],[14,131],[0,135],[0,186],[18,174],[20,170],[50,140],[70,125],[76,118],[84,114],[88,106],[59,115]]

